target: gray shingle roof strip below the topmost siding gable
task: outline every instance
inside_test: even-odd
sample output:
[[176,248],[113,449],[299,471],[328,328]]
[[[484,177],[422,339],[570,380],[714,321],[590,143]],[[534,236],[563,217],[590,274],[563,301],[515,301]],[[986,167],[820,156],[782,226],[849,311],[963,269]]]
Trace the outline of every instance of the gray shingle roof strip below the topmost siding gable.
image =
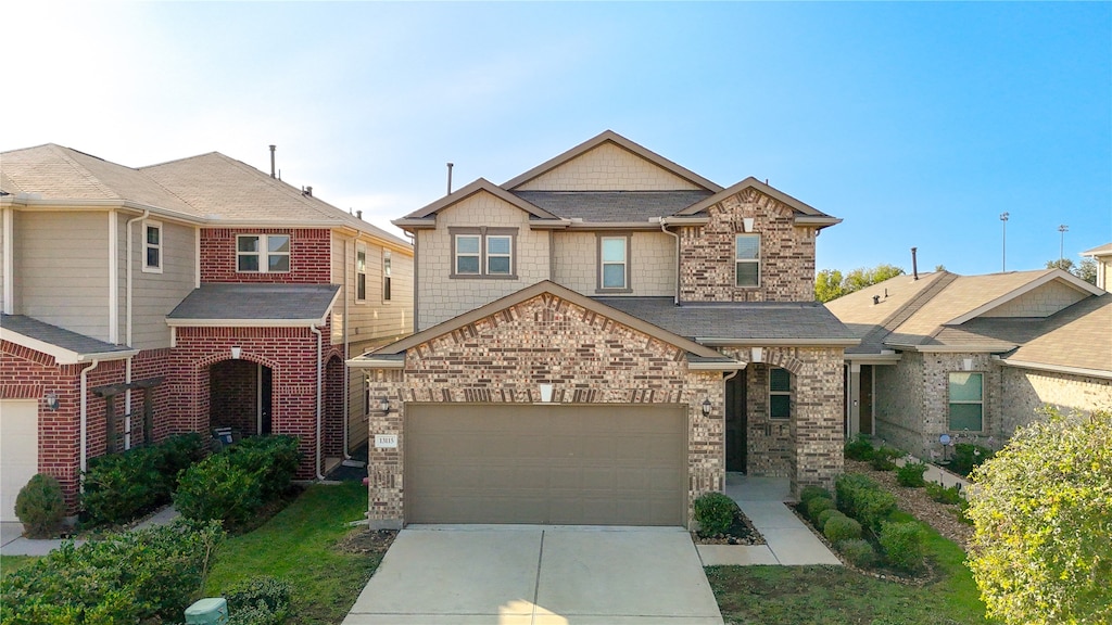
[[553,215],[584,221],[648,221],[667,217],[712,195],[711,191],[513,191]]

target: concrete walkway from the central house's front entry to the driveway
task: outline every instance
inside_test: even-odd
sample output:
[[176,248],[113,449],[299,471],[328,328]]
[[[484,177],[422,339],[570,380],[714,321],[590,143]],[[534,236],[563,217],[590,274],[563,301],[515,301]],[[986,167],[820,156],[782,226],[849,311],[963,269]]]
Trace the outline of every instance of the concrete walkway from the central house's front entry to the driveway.
[[795,516],[787,478],[726,474],[726,495],[737,502],[767,545],[696,545],[704,566],[771,564],[841,565],[842,560]]

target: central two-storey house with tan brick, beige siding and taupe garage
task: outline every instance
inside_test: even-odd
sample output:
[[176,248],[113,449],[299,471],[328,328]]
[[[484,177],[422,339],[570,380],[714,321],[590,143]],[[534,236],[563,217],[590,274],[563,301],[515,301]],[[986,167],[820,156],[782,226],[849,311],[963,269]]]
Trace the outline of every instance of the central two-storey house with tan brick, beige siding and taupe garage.
[[348,361],[385,400],[373,524],[687,526],[727,470],[830,486],[857,341],[813,294],[838,221],[609,131],[396,220],[418,331]]

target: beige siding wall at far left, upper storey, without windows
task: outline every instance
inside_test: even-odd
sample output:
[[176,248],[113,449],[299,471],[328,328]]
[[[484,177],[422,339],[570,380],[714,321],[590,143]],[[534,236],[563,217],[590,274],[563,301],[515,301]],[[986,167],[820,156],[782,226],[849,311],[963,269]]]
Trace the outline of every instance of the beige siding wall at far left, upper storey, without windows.
[[16,212],[21,314],[108,340],[106,211]]

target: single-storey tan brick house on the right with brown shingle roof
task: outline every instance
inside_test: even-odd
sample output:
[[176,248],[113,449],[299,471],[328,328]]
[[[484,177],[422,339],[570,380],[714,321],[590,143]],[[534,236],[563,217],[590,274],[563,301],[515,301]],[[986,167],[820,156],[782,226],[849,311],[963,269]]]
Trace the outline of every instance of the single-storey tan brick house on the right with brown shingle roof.
[[943,434],[1000,447],[1046,404],[1112,409],[1112,295],[1066,271],[896,276],[827,307],[861,338],[850,435],[932,458]]

